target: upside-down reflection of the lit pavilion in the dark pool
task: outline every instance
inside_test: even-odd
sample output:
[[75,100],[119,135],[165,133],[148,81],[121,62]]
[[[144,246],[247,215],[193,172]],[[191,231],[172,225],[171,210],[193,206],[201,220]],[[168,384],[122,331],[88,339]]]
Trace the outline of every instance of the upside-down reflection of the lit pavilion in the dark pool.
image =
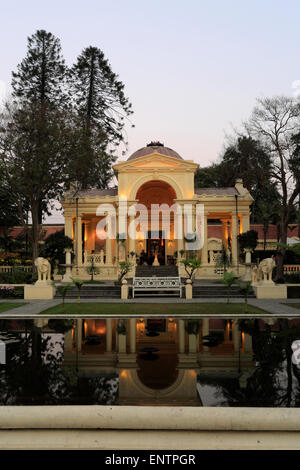
[[119,404],[200,405],[197,376],[246,372],[252,356],[238,320],[78,319],[65,334],[65,365],[85,376],[117,373]]

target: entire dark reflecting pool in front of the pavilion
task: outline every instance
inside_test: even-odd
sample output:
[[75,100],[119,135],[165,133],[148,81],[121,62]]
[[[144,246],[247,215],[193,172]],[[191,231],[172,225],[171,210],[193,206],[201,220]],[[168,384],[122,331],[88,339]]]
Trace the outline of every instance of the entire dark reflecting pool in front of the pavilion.
[[0,405],[300,406],[300,318],[0,320]]

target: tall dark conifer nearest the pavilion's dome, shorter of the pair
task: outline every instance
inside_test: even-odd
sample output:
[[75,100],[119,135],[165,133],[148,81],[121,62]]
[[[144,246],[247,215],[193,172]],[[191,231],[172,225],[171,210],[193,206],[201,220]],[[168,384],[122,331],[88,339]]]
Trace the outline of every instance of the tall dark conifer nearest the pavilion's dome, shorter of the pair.
[[132,114],[131,104],[125,97],[124,84],[96,47],[83,50],[69,78],[82,132],[70,178],[72,175],[82,188],[106,188],[116,160],[109,150],[124,142],[124,124]]

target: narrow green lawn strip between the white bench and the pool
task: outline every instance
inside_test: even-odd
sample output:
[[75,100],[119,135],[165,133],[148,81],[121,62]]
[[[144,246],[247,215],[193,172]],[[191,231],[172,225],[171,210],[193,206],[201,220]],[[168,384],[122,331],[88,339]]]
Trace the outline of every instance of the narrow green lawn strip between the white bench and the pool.
[[99,314],[99,315],[174,315],[174,314],[199,314],[215,315],[225,313],[228,315],[244,313],[266,313],[264,310],[248,305],[248,312],[245,312],[245,304],[227,303],[186,303],[186,304],[142,304],[142,303],[67,303],[56,305],[41,312],[43,315],[51,314]]

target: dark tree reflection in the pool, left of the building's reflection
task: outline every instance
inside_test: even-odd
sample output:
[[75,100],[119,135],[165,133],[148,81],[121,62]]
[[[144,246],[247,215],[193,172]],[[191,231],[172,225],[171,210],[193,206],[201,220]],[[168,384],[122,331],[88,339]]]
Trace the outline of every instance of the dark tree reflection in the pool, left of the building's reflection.
[[60,341],[52,341],[31,321],[18,337],[16,350],[0,370],[0,405],[114,403],[116,377],[82,378],[75,368],[63,367],[63,335]]

